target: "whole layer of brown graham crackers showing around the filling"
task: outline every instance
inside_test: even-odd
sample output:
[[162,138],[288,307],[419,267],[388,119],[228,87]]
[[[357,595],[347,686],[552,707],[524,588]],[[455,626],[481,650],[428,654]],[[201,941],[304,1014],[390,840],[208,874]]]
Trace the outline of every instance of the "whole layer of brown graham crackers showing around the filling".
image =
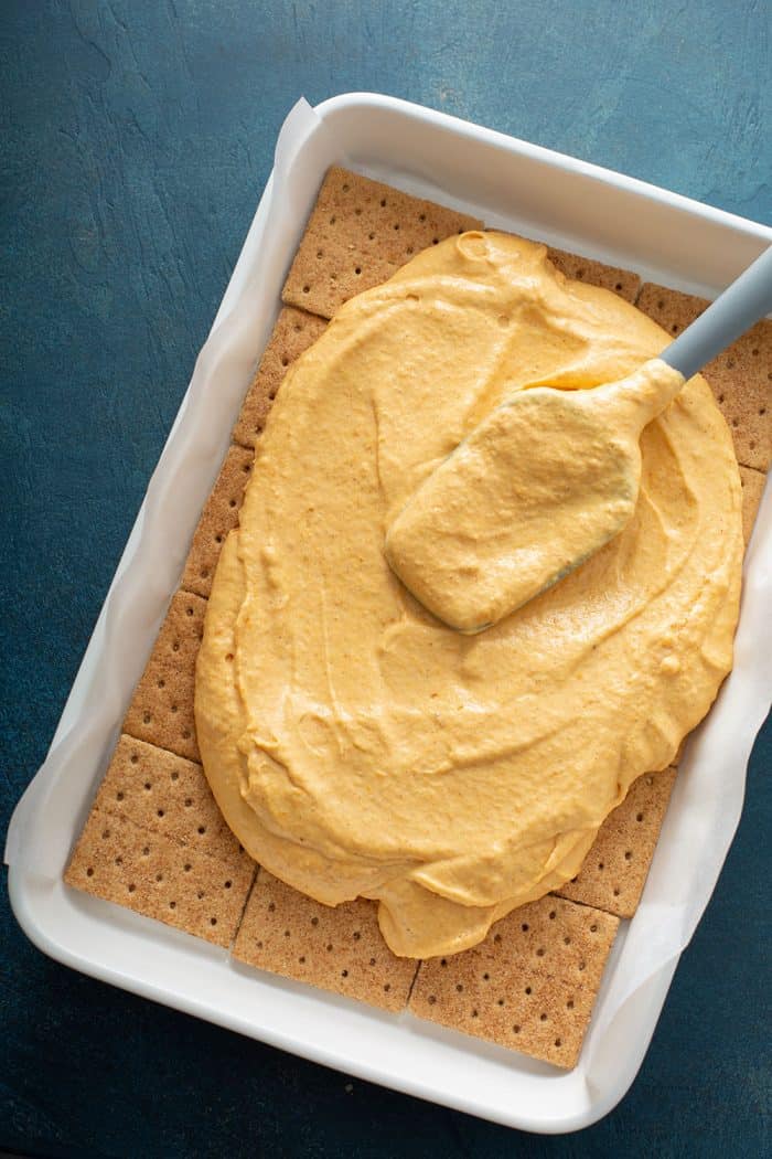
[[[341,301],[388,278],[435,236],[479,227],[463,214],[330,170],[285,286],[289,305],[244,401],[234,446],[193,538],[183,588],[171,602],[126,715],[127,735],[118,743],[66,875],[71,885],[221,946],[230,945],[238,930],[234,954],[240,961],[390,1011],[404,1008],[417,967],[390,953],[373,903],[330,909],[262,869],[238,928],[255,866],[225,826],[198,764],[194,664],[221,540],[237,522],[251,452],[285,372],[323,333],[325,319]],[[634,300],[637,275],[560,250],[550,256],[568,276]],[[653,316],[666,328],[684,325],[670,321],[668,311],[683,309],[686,296],[646,286],[641,297],[641,307],[659,312]],[[769,449],[766,459],[757,454],[766,403],[753,393],[762,386],[769,391],[769,363],[762,370],[765,349],[751,345],[743,359],[726,367],[733,372],[731,391],[718,391],[713,380],[730,423],[738,416],[733,427],[738,454],[747,447],[748,466],[741,468],[747,535],[764,484],[753,468],[769,462]],[[750,402],[745,378],[752,380]],[[756,427],[748,435],[751,411]],[[613,914],[635,910],[674,775],[670,770],[635,782],[601,829],[578,879],[564,888],[573,901],[543,898],[498,923],[481,946],[422,963],[411,1011],[559,1066],[573,1065],[617,927]]]

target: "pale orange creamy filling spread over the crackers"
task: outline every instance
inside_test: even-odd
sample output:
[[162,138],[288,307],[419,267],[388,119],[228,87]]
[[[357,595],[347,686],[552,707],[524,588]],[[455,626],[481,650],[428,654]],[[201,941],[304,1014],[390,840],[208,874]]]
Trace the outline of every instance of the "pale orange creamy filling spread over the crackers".
[[384,556],[513,392],[591,391],[666,341],[543,247],[468,233],[348,301],[285,378],[208,604],[198,742],[252,857],[319,902],[376,898],[397,954],[472,946],[573,877],[731,665],[740,478],[699,376],[644,431],[625,530],[493,627],[435,619]]

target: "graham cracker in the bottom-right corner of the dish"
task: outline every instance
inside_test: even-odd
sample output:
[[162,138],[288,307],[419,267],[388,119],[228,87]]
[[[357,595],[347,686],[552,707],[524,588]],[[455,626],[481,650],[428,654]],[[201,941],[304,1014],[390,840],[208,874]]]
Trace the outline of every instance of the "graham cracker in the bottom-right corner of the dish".
[[498,921],[479,946],[421,962],[407,1008],[572,1067],[618,924],[563,898],[531,902]]

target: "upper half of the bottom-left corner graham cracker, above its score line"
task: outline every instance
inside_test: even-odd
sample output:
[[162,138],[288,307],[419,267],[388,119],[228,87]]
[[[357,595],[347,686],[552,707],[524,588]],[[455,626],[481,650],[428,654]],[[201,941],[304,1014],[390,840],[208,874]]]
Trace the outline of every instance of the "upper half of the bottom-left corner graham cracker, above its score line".
[[94,806],[221,861],[240,852],[203,767],[125,734]]

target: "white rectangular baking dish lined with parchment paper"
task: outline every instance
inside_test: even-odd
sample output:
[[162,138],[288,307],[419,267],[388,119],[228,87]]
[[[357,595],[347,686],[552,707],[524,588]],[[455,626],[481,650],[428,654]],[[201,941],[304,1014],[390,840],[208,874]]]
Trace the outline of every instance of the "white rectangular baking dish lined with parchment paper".
[[740,817],[745,764],[772,688],[769,494],[747,559],[735,671],[690,745],[644,901],[623,923],[571,1073],[238,967],[222,950],[61,882],[332,162],[707,296],[772,241],[763,226],[402,101],[350,94],[315,111],[301,102],[282,130],[273,176],[49,757],[14,814],[6,850],[12,904],[42,950],[86,974],[476,1115],[531,1131],[574,1130],[630,1087]]

